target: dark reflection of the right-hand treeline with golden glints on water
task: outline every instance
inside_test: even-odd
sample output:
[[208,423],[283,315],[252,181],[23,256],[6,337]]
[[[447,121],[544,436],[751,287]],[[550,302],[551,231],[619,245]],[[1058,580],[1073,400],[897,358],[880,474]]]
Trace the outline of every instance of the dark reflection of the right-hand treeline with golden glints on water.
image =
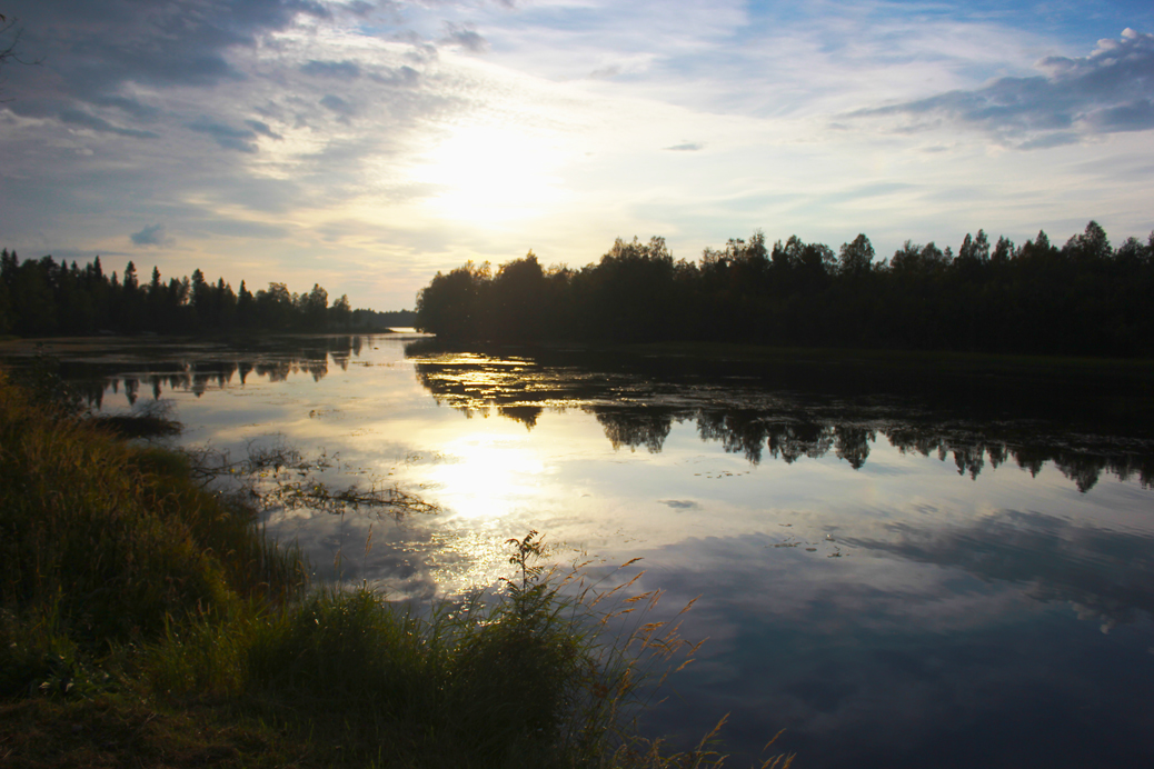
[[[418,382],[439,404],[466,415],[487,414],[495,407],[502,416],[532,429],[545,406],[583,408],[595,416],[614,448],[644,446],[658,453],[674,422],[695,421],[702,440],[720,443],[726,452],[755,465],[766,454],[794,462],[833,452],[861,469],[881,436],[902,453],[952,460],[960,475],[972,478],[987,467],[1014,461],[1032,475],[1051,463],[1080,491],[1092,489],[1103,473],[1122,480],[1137,477],[1144,487],[1154,487],[1154,452],[1145,443],[1127,448],[1102,439],[1047,436],[1004,422],[950,415],[935,420],[924,412],[914,421],[900,404],[875,407],[863,417],[850,406],[820,405],[780,392],[675,387],[645,377],[475,354],[418,360],[415,370]],[[743,399],[757,406],[740,402]],[[700,402],[668,405],[677,400]],[[718,406],[718,400],[735,405]]]

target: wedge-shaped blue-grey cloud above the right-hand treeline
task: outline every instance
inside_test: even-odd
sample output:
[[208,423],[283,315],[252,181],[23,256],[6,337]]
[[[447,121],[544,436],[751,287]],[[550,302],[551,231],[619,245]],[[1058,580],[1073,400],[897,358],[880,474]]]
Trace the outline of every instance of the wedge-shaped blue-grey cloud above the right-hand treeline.
[[1019,149],[1154,128],[1154,35],[1126,29],[1117,40],[1099,40],[1087,56],[1047,56],[1035,68],[1042,74],[1001,77],[975,90],[947,91],[847,116],[899,116],[905,119],[899,131],[964,126]]

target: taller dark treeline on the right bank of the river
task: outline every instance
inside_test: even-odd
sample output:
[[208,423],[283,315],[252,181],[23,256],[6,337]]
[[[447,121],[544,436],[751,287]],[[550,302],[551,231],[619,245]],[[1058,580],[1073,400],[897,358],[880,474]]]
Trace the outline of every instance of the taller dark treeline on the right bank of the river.
[[1058,248],[966,235],[957,254],[907,241],[876,261],[755,233],[674,259],[664,239],[617,240],[597,264],[545,269],[530,251],[437,273],[418,327],[460,340],[748,341],[994,353],[1154,354],[1154,233],[1118,248],[1091,221]]

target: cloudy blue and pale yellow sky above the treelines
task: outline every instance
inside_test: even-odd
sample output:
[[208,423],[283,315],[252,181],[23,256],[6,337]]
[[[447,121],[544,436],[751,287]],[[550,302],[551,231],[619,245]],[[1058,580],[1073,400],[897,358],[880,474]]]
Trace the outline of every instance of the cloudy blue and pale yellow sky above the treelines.
[[[412,308],[437,271],[1154,229],[1154,5],[0,0],[0,246]],[[3,47],[0,45],[0,47]],[[28,63],[22,63],[28,62]]]

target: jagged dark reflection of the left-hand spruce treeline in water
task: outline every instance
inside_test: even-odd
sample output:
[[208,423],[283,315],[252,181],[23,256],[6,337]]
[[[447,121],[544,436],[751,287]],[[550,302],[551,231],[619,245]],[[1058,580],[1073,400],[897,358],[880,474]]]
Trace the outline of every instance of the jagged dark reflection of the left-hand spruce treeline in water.
[[[329,359],[349,369],[350,357],[359,356],[360,337],[315,337],[277,339],[265,347],[231,353],[227,360],[190,359],[188,361],[162,361],[134,364],[137,374],[104,378],[92,378],[91,374],[74,379],[74,386],[81,392],[89,407],[100,408],[104,405],[106,389],[119,394],[123,391],[128,404],[135,405],[142,383],[147,383],[152,392],[152,399],[159,400],[166,391],[192,392],[200,397],[209,390],[227,386],[234,378],[247,384],[248,377],[255,372],[271,383],[285,382],[298,374],[307,374],[314,382],[320,382],[329,372]],[[75,368],[75,367],[73,367]],[[122,365],[121,365],[122,368]],[[77,376],[75,372],[72,377]],[[72,378],[69,377],[69,378]]]

